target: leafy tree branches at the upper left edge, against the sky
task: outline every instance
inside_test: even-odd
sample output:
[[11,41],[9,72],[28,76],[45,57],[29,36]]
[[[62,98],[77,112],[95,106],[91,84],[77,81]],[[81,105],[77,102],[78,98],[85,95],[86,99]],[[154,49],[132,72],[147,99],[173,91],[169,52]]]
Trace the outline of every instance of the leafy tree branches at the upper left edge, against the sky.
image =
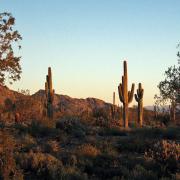
[[21,48],[22,37],[14,25],[15,18],[10,13],[0,13],[0,84],[5,83],[6,77],[11,84],[20,79],[21,57],[16,56],[15,51]]

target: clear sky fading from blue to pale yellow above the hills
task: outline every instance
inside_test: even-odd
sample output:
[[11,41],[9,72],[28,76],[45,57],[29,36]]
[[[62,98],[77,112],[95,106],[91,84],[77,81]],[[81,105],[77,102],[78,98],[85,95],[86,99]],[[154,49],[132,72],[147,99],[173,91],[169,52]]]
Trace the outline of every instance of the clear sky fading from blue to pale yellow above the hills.
[[177,63],[179,0],[0,0],[4,11],[23,36],[15,90],[43,89],[51,66],[56,93],[112,102],[126,59],[129,88],[142,82],[151,105],[164,71]]

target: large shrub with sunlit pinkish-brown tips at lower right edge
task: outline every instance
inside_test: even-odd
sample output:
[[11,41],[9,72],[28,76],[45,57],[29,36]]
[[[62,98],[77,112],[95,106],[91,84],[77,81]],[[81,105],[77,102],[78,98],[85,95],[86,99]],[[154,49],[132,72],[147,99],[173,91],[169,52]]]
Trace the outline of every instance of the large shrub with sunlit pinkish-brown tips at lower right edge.
[[158,141],[145,153],[145,156],[162,164],[167,173],[176,172],[180,168],[180,144],[175,141]]

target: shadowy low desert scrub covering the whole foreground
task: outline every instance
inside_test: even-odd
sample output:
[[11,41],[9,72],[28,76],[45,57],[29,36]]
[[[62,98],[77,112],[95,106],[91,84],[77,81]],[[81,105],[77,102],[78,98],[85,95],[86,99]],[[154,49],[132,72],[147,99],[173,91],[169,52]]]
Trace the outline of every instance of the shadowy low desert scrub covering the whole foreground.
[[2,179],[178,179],[180,128],[89,125],[78,118],[1,126]]

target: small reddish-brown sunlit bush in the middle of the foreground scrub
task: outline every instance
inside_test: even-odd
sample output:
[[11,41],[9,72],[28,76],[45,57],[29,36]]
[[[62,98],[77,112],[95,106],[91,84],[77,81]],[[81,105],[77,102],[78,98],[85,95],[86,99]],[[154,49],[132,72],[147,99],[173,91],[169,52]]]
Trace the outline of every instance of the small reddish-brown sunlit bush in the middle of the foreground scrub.
[[77,147],[76,153],[79,156],[96,157],[100,154],[100,150],[90,144],[83,144]]

